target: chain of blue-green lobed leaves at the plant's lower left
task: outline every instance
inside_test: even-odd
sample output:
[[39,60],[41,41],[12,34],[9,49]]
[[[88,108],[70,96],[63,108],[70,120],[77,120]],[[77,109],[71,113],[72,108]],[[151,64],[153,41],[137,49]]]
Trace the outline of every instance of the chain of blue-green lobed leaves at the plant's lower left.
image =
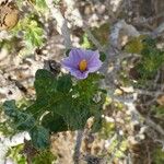
[[26,130],[30,132],[32,142],[37,149],[49,145],[49,132],[42,126],[37,126],[32,114],[19,109],[15,101],[7,101],[3,104],[4,113],[13,120],[15,130]]

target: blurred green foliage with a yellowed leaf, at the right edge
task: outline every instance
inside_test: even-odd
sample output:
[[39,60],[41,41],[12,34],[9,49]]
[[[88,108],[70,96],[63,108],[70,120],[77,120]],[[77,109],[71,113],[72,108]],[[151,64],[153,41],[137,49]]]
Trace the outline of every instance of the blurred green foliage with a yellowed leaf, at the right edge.
[[[164,63],[164,51],[156,47],[156,40],[145,36],[131,39],[125,50],[127,52],[140,54],[140,59],[136,63],[136,73],[143,82],[152,79]],[[143,84],[143,83],[142,83]]]

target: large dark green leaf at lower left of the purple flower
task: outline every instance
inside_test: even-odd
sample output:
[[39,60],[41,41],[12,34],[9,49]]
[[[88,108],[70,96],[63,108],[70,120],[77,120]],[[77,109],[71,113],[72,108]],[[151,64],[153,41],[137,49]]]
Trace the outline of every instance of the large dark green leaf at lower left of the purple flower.
[[35,118],[55,108],[55,103],[62,97],[62,93],[57,94],[57,79],[44,69],[37,70],[34,86],[36,90],[36,101],[26,110]]

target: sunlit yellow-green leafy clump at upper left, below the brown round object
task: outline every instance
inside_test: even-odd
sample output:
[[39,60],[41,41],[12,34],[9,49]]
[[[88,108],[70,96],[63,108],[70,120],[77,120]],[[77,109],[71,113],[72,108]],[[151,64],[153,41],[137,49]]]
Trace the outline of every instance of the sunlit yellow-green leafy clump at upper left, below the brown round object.
[[[12,52],[16,50],[21,56],[32,54],[36,47],[44,44],[44,30],[33,16],[21,20],[11,33],[12,37],[1,40],[0,47]],[[22,33],[22,36],[17,37],[20,33]]]

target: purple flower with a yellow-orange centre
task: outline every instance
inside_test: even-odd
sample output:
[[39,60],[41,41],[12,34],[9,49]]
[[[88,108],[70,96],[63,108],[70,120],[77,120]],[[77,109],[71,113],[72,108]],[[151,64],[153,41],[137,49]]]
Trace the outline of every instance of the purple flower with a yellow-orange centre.
[[77,79],[85,79],[90,72],[95,72],[101,68],[102,61],[97,50],[74,48],[69,52],[69,57],[62,60],[61,65]]

